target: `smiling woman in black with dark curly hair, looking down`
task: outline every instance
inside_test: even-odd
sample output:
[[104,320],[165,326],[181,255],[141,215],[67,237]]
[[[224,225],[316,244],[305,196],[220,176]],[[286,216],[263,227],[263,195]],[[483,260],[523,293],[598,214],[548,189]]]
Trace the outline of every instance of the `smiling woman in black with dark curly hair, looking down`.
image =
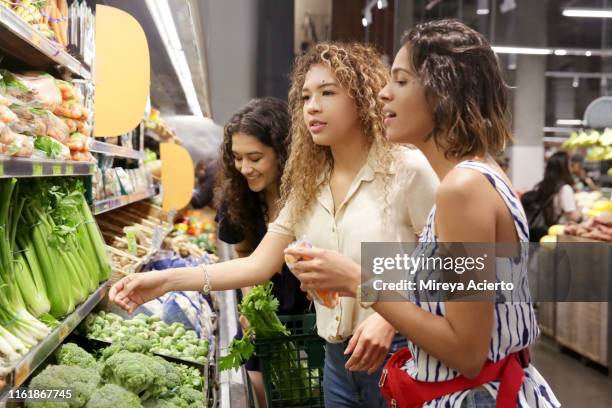
[[[280,180],[287,161],[290,116],[287,104],[267,97],[253,99],[232,116],[223,131],[215,200],[219,239],[235,244],[239,257],[249,256],[280,210]],[[279,301],[278,313],[302,314],[309,302],[300,283],[283,265],[270,279]],[[243,294],[249,288],[243,288]],[[248,322],[241,317],[243,328]],[[261,364],[245,364],[260,407],[265,406]]]

